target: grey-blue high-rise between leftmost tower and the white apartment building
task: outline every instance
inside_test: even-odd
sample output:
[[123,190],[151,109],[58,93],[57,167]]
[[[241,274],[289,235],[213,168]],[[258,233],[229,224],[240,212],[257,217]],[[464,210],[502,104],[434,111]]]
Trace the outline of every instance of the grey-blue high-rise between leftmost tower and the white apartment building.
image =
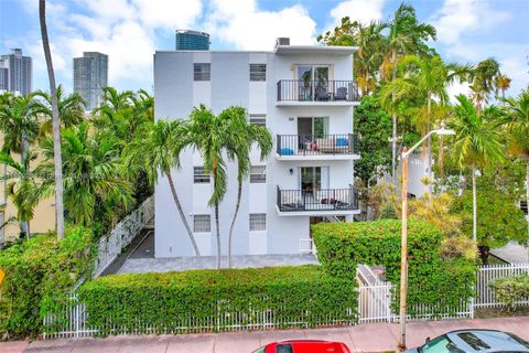
[[102,88],[108,85],[108,55],[84,52],[74,57],[74,92],[85,99],[86,109],[91,110],[102,103]]

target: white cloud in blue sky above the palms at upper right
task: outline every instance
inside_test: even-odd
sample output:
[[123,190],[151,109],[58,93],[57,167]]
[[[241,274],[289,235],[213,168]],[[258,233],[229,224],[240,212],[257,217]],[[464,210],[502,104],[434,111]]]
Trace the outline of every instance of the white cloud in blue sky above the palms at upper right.
[[445,0],[432,21],[439,41],[454,44],[464,34],[488,31],[508,19],[510,13],[492,10],[488,0]]

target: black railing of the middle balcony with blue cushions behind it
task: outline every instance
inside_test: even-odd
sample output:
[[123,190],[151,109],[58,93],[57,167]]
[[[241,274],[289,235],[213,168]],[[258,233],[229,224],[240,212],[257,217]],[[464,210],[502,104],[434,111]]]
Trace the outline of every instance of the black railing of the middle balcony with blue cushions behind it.
[[279,156],[353,154],[358,150],[356,135],[278,135]]

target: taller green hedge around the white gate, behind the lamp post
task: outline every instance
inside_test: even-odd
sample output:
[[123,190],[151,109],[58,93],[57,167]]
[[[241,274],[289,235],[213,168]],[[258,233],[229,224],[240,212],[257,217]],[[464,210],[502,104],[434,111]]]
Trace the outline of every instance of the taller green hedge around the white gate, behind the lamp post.
[[[387,280],[400,286],[401,222],[380,220],[357,223],[320,223],[312,226],[317,257],[333,276],[352,279],[358,264],[384,265]],[[408,312],[413,304],[432,306],[433,314],[453,313],[461,299],[469,300],[475,264],[441,256],[442,233],[421,221],[408,222]],[[399,292],[393,292],[397,311]]]

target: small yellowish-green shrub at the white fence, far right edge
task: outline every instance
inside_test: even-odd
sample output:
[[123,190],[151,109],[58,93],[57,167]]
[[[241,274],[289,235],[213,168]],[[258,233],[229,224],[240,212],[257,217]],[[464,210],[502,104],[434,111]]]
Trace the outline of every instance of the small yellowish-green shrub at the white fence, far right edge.
[[508,311],[516,310],[519,301],[529,298],[529,276],[501,277],[490,282],[496,297]]

